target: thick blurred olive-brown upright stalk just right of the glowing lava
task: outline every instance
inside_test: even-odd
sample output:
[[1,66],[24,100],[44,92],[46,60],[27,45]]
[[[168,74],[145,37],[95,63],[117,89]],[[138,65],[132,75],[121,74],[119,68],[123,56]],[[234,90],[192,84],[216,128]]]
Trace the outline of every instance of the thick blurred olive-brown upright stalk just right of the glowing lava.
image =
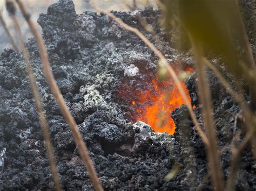
[[205,122],[206,135],[209,139],[209,147],[207,148],[207,158],[210,165],[210,174],[213,186],[216,190],[224,190],[223,172],[220,166],[220,156],[218,152],[217,136],[212,116],[212,97],[208,86],[207,77],[204,70],[203,48],[192,37],[190,37],[198,75],[198,93],[199,101],[202,104],[202,114]]

